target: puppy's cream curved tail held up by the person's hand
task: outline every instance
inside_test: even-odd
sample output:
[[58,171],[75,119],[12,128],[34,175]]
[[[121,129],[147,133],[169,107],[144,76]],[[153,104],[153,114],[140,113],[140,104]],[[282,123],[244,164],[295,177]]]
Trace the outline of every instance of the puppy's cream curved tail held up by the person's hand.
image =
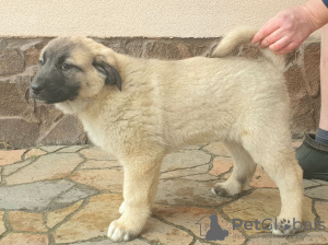
[[[220,44],[216,46],[211,57],[226,57],[234,49],[243,44],[250,44],[253,36],[258,32],[257,28],[250,26],[243,26],[233,30],[229,33]],[[278,69],[284,69],[284,57],[282,55],[277,55],[269,48],[260,49],[261,54],[269,59]]]

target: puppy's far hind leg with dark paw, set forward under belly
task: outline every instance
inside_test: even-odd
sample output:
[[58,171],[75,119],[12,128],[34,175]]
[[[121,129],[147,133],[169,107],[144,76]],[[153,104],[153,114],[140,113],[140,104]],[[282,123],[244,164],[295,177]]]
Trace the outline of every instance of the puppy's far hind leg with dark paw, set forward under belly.
[[212,192],[222,197],[239,194],[250,182],[256,168],[256,163],[241,143],[224,142],[224,144],[234,159],[234,168],[226,182],[218,183],[212,188]]

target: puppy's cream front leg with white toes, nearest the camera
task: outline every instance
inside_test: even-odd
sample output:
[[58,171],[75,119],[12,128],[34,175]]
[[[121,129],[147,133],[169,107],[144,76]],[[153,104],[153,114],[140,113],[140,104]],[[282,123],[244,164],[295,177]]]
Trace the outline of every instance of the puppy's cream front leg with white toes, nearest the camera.
[[156,194],[161,163],[162,158],[159,160],[149,155],[124,161],[125,201],[120,208],[121,217],[109,225],[110,240],[129,241],[140,234]]

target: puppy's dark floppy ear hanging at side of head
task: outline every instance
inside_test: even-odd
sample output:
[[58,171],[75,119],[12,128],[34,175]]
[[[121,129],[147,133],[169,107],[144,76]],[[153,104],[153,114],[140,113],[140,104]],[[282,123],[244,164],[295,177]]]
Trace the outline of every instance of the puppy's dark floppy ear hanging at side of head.
[[108,62],[106,62],[104,57],[97,56],[92,65],[95,67],[95,69],[97,69],[99,72],[106,75],[106,84],[116,84],[117,88],[121,91],[121,78],[118,71]]

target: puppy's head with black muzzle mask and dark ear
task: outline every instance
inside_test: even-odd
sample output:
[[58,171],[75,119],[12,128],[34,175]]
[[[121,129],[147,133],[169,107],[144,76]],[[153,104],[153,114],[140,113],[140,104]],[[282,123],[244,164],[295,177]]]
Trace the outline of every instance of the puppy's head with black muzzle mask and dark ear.
[[[42,51],[31,95],[47,104],[91,98],[105,85],[121,90],[115,52],[83,37],[58,37]],[[114,86],[113,86],[114,88]]]

